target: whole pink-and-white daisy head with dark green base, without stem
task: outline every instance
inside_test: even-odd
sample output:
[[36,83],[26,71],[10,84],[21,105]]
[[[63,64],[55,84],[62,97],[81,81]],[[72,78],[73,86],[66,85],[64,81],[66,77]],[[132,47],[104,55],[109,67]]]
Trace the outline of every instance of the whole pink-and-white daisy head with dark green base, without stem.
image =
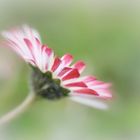
[[97,108],[106,108],[99,99],[111,98],[110,83],[94,76],[81,77],[85,69],[83,61],[72,64],[73,56],[61,58],[47,45],[42,45],[39,33],[29,26],[2,33],[6,43],[33,68],[34,92],[47,99],[69,96],[72,100]]

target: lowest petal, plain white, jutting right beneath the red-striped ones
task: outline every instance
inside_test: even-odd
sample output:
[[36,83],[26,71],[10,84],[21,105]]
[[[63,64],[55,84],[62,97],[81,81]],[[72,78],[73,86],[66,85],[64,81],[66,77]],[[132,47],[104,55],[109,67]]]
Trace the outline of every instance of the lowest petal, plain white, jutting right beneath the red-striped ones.
[[94,107],[97,109],[103,109],[106,110],[108,109],[107,104],[105,104],[104,102],[97,100],[97,99],[90,99],[90,98],[86,98],[86,97],[82,97],[82,96],[71,96],[70,99],[72,101],[87,105],[89,107]]

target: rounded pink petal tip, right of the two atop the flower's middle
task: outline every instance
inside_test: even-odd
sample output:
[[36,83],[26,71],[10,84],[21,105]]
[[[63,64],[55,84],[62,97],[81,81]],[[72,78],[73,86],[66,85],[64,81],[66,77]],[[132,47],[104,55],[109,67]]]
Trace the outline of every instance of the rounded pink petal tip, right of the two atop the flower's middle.
[[72,68],[78,69],[79,73],[82,73],[84,71],[85,67],[86,67],[86,65],[83,61],[78,61],[72,66]]

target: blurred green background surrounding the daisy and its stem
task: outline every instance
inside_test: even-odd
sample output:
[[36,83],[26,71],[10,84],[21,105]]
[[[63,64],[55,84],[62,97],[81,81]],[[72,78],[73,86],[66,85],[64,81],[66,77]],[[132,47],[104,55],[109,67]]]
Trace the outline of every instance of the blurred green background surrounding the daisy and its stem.
[[[139,140],[140,1],[0,0],[0,30],[23,23],[61,56],[72,53],[85,73],[113,83],[108,111],[69,100],[36,102],[0,128],[0,140]],[[28,93],[27,65],[0,48],[0,115]]]

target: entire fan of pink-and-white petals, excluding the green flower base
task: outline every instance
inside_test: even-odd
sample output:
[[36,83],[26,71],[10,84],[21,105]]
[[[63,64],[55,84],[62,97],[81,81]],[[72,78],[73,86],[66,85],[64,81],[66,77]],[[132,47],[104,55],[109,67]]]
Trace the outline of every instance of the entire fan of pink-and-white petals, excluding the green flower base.
[[111,98],[111,84],[99,81],[94,76],[80,77],[86,67],[83,61],[71,65],[71,54],[65,54],[61,58],[54,56],[51,48],[41,44],[39,33],[26,25],[21,29],[4,31],[2,35],[6,44],[26,62],[40,69],[42,73],[50,71],[53,79],[59,79],[61,86],[71,91],[69,95],[72,100],[92,107],[106,108],[106,105],[98,102],[95,97]]

